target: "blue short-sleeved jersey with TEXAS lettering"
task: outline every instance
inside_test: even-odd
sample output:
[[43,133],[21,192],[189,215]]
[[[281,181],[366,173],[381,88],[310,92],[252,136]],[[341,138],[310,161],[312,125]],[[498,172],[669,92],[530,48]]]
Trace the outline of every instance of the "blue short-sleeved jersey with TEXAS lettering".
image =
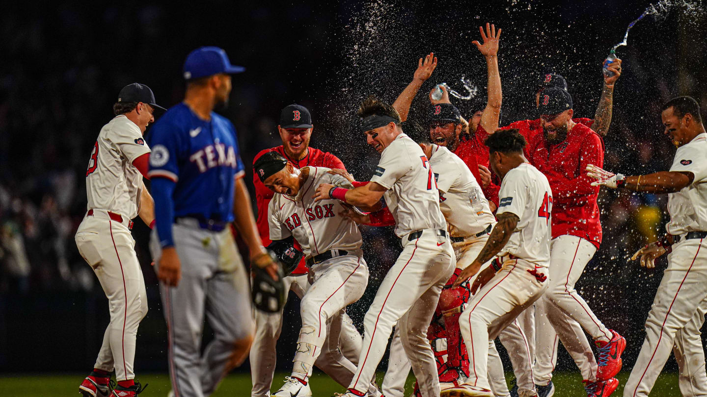
[[175,217],[233,220],[233,184],[245,171],[235,128],[228,119],[211,112],[211,120],[205,121],[180,103],[152,126],[149,141],[148,176],[176,182]]

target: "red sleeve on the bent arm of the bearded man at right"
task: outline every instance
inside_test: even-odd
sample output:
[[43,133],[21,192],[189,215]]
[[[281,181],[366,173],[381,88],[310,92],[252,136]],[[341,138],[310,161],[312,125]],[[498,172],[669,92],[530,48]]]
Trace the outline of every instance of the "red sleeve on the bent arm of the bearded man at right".
[[604,143],[597,134],[587,134],[582,138],[582,145],[579,153],[569,155],[579,155],[579,176],[568,179],[563,174],[556,171],[543,170],[552,188],[553,200],[558,203],[573,203],[575,206],[583,206],[587,196],[597,194],[599,186],[591,186],[594,179],[587,176],[585,171],[587,165],[593,164],[597,167],[604,167]]

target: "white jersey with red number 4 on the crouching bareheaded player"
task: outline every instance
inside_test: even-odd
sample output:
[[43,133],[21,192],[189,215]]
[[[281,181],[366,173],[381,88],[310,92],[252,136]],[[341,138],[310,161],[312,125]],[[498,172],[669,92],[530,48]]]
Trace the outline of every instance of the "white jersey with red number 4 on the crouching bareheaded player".
[[498,211],[518,215],[518,225],[498,256],[511,254],[535,266],[550,263],[552,190],[537,168],[524,162],[508,171],[498,191]]

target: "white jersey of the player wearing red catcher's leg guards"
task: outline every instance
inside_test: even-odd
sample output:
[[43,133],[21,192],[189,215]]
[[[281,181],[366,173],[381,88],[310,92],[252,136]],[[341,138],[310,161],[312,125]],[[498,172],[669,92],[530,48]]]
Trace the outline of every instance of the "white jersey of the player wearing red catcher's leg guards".
[[440,210],[452,237],[476,235],[496,220],[477,179],[459,156],[433,145],[430,166],[440,192]]

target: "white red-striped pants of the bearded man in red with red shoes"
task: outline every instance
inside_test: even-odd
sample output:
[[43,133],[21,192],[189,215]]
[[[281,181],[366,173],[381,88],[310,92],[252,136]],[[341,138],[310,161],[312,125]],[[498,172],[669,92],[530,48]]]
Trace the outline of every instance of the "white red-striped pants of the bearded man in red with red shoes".
[[577,236],[562,235],[550,243],[549,287],[536,304],[537,384],[546,385],[552,379],[558,339],[574,359],[583,379],[597,379],[597,360],[584,331],[594,340],[604,341],[611,340],[612,333],[575,290],[575,283],[596,251],[594,244]]

